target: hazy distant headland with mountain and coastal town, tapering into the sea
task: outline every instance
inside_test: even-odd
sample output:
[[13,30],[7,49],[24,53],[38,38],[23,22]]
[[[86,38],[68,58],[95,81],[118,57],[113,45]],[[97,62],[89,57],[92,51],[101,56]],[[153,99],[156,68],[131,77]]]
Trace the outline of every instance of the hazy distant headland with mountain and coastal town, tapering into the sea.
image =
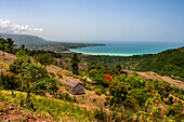
[[17,45],[25,44],[26,48],[28,48],[29,50],[44,50],[44,51],[53,51],[57,53],[61,51],[67,51],[68,49],[104,45],[104,44],[95,44],[95,43],[48,41],[40,37],[30,36],[30,35],[0,33],[0,36],[4,39],[12,38],[15,41],[15,44]]

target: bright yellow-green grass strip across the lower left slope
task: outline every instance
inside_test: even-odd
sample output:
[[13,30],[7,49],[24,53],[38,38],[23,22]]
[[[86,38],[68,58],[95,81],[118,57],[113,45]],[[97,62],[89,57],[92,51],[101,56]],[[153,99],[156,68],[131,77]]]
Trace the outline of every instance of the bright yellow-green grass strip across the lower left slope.
[[[12,95],[13,92],[13,95]],[[25,99],[26,93],[22,93],[22,98]],[[1,91],[0,100],[21,104],[21,92],[17,91]],[[31,95],[31,101],[36,112],[43,113],[55,120],[62,121],[94,121],[92,112],[86,108],[81,108],[73,103],[48,98],[38,95]]]

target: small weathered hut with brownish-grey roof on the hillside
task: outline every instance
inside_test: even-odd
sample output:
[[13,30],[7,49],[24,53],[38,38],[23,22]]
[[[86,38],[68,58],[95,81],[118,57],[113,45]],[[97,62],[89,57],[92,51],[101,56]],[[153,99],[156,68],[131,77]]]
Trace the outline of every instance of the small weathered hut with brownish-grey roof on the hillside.
[[68,79],[65,81],[65,85],[67,86],[67,90],[75,95],[83,94],[83,86],[84,84],[74,80],[74,79]]

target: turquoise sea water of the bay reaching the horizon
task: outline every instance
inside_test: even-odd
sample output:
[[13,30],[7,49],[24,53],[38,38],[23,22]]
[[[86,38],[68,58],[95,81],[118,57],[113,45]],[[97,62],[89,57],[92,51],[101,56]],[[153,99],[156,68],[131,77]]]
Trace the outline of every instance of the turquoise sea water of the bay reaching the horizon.
[[184,42],[106,42],[106,45],[70,49],[70,51],[94,54],[131,56],[156,54],[165,50],[184,46]]

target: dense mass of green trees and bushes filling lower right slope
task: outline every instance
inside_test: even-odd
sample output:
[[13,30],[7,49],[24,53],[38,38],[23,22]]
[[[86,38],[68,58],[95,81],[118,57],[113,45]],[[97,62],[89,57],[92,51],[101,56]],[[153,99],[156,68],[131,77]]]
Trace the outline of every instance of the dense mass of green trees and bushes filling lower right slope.
[[[111,77],[109,80],[105,77],[107,73]],[[105,105],[110,112],[107,114],[105,108],[96,110],[95,118],[101,121],[113,118],[115,121],[180,122],[183,119],[183,105],[180,103],[184,100],[184,91],[166,81],[144,80],[136,72],[127,76],[120,65],[108,68],[95,62],[88,63],[88,70],[83,74],[92,80],[86,81],[88,90],[94,90],[97,95],[106,95]],[[173,101],[170,98],[172,95],[180,96],[180,99]]]

